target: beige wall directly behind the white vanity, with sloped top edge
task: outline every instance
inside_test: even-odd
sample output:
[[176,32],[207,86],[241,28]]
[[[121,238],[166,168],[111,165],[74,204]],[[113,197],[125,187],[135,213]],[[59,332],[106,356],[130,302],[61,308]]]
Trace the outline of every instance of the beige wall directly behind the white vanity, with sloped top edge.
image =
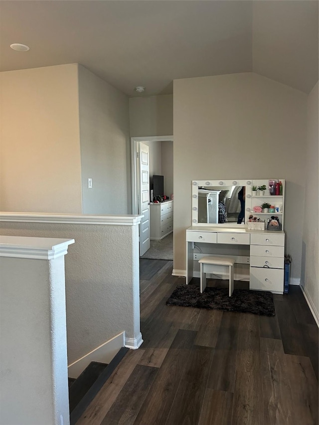
[[185,270],[191,180],[285,178],[292,278],[301,276],[307,96],[253,73],[174,81],[174,269]]

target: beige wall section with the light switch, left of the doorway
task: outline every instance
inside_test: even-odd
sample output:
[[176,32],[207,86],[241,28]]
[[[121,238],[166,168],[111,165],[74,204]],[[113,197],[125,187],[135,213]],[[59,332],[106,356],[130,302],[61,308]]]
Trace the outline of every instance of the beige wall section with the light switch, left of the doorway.
[[79,108],[83,213],[128,214],[129,98],[80,65]]

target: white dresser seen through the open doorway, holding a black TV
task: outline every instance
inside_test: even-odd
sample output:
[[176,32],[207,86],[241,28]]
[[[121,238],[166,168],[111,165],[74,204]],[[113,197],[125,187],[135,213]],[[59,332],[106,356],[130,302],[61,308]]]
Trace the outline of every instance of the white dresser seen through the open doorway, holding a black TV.
[[162,239],[173,231],[173,201],[150,205],[151,239]]

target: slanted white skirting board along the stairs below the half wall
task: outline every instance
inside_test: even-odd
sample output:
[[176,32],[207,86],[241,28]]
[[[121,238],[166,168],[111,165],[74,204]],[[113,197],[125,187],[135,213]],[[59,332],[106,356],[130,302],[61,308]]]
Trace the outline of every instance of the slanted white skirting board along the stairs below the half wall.
[[81,357],[68,366],[68,376],[77,378],[91,362],[110,363],[110,361],[124,347],[125,332],[121,332],[109,339],[95,350]]

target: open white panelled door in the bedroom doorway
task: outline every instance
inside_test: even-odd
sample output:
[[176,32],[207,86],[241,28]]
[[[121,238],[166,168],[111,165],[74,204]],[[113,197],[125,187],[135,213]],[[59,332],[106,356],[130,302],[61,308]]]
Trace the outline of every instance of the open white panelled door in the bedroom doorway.
[[149,146],[140,143],[140,185],[139,214],[143,214],[140,224],[140,256],[150,249],[150,162]]

